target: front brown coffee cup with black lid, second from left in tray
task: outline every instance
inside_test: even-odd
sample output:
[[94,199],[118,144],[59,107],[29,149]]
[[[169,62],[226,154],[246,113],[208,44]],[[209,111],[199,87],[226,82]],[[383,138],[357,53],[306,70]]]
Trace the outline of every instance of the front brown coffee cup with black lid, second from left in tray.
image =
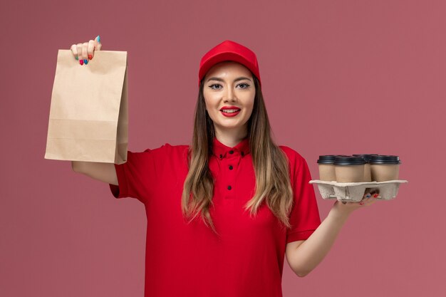
[[363,157],[338,156],[335,165],[336,182],[364,182]]

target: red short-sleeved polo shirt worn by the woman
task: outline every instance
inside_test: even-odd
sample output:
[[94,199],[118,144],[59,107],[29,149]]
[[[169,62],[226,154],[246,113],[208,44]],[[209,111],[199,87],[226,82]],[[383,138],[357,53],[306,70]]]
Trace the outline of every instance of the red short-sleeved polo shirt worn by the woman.
[[289,159],[294,191],[291,230],[265,203],[256,217],[244,212],[255,187],[248,138],[235,147],[214,138],[210,214],[219,236],[201,217],[187,224],[182,216],[187,145],[166,143],[154,150],[129,151],[128,161],[115,165],[119,187],[110,184],[113,196],[134,197],[145,205],[145,296],[282,296],[286,244],[307,239],[321,219],[306,161],[291,148],[280,148]]

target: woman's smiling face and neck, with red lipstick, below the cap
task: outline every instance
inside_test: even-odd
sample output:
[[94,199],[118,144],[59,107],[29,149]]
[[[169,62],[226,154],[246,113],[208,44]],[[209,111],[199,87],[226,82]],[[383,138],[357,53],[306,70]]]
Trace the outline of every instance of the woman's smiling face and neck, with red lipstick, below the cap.
[[215,64],[204,76],[203,95],[217,138],[247,136],[256,95],[248,68],[233,61]]

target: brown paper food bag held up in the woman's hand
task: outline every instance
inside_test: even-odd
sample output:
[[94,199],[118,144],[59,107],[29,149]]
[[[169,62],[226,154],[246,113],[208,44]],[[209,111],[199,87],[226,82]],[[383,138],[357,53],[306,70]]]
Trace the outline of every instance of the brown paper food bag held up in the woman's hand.
[[81,66],[58,50],[45,159],[127,161],[127,52],[95,51]]

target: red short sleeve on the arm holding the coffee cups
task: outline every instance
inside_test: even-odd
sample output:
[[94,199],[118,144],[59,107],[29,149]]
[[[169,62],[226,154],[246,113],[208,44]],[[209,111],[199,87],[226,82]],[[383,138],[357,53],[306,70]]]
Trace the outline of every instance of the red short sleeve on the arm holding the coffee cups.
[[[291,150],[291,149],[290,149]],[[290,214],[291,229],[287,229],[286,243],[305,240],[321,224],[316,194],[311,180],[311,173],[304,157],[294,152],[291,158],[291,187],[294,194],[294,206]]]

